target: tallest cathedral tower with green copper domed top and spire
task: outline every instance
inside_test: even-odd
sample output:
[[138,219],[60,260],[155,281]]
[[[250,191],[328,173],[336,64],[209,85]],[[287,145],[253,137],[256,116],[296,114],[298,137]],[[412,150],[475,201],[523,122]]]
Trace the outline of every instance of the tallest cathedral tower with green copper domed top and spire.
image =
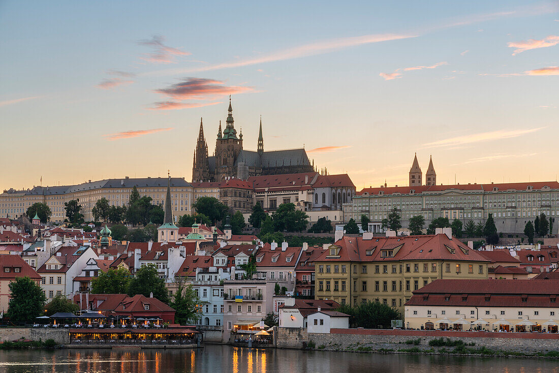
[[234,126],[233,107],[231,107],[231,96],[229,96],[229,108],[226,119],[227,125],[221,134],[217,133],[217,140],[215,144],[215,168],[216,180],[224,181],[227,176],[236,176],[236,168],[234,167],[235,161],[243,150],[243,136],[237,137],[237,131]]

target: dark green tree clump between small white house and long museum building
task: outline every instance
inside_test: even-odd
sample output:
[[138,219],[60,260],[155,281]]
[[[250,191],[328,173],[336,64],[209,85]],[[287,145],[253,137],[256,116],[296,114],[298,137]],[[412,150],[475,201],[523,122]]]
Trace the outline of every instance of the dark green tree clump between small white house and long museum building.
[[354,328],[389,328],[391,320],[402,318],[400,311],[377,301],[366,301],[354,306],[345,304],[338,311],[349,315],[349,324]]

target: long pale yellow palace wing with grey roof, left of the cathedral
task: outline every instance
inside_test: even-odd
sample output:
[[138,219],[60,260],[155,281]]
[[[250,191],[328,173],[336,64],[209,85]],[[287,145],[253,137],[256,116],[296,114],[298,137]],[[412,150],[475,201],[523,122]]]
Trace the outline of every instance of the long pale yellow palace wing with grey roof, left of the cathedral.
[[[164,205],[167,191],[167,178],[129,178],[91,181],[79,185],[42,187],[36,186],[27,190],[4,190],[0,194],[0,216],[16,219],[36,202],[50,207],[53,215],[51,221],[64,221],[66,211],[64,203],[79,200],[81,213],[86,221],[93,220],[91,213],[97,200],[106,198],[111,206],[126,206],[132,188],[136,187],[140,197],[149,196],[154,205]],[[174,177],[170,180],[170,194],[174,221],[184,214],[191,214],[194,201],[194,188],[184,178]],[[219,190],[217,190],[219,197]]]

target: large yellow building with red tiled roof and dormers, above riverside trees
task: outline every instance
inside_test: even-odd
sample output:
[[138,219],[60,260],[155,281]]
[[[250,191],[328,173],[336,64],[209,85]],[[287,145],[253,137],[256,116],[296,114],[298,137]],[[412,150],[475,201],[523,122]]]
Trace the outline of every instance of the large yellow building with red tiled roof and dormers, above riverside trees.
[[404,310],[412,292],[439,278],[487,278],[489,260],[452,231],[404,237],[343,237],[315,261],[315,298]]

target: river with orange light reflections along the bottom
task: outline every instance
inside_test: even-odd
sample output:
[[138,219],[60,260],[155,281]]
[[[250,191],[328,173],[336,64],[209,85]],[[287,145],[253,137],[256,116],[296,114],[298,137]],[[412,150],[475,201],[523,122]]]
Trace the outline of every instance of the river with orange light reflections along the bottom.
[[558,372],[559,360],[301,350],[206,345],[200,350],[0,351],[0,373]]

